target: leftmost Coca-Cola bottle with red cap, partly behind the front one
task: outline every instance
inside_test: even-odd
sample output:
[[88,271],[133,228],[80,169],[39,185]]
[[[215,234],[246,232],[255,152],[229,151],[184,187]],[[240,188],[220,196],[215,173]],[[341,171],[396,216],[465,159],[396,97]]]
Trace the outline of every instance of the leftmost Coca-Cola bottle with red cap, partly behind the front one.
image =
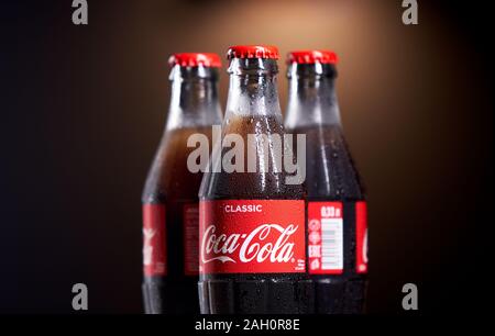
[[[168,117],[144,187],[143,296],[146,313],[198,313],[198,189],[201,171],[190,170],[190,135],[221,123],[216,54],[170,57]],[[206,163],[207,164],[207,163]],[[205,165],[206,166],[206,165]]]

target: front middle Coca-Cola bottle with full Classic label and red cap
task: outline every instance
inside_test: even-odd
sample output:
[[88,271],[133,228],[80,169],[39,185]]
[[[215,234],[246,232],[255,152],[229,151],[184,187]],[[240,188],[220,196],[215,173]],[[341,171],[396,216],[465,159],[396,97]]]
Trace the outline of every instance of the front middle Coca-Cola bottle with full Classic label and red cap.
[[221,143],[199,193],[201,313],[305,313],[305,202],[280,167],[278,51],[233,46],[228,58]]

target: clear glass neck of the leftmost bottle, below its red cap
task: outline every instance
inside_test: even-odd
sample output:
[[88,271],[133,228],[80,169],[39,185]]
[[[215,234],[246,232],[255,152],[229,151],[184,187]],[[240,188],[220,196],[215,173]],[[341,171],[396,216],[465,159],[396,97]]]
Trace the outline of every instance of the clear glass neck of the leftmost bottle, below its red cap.
[[221,123],[216,68],[177,65],[172,69],[169,79],[172,96],[166,130]]

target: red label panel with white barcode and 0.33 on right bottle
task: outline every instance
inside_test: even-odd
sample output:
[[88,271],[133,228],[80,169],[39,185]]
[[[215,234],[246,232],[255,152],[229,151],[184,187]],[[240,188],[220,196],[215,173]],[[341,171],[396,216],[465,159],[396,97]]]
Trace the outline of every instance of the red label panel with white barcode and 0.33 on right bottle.
[[310,275],[343,272],[341,202],[308,203],[308,262]]

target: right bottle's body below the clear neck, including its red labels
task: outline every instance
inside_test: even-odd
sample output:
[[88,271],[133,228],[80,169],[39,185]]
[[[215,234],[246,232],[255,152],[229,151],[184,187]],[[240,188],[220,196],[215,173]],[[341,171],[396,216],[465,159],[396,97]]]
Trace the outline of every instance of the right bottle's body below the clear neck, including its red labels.
[[[365,225],[359,226],[358,223],[365,221],[366,203],[342,130],[337,126],[308,126],[297,127],[293,132],[306,134],[307,164],[312,167],[307,169],[306,198],[307,264],[315,287],[315,313],[362,313],[366,275],[360,267],[367,264],[367,250],[363,243],[367,233]],[[328,192],[328,186],[331,190],[340,190]],[[317,222],[320,222],[319,227],[318,224],[311,225]],[[341,244],[326,245],[324,239],[340,239]],[[331,260],[327,270],[322,270],[326,258],[337,260]]]

